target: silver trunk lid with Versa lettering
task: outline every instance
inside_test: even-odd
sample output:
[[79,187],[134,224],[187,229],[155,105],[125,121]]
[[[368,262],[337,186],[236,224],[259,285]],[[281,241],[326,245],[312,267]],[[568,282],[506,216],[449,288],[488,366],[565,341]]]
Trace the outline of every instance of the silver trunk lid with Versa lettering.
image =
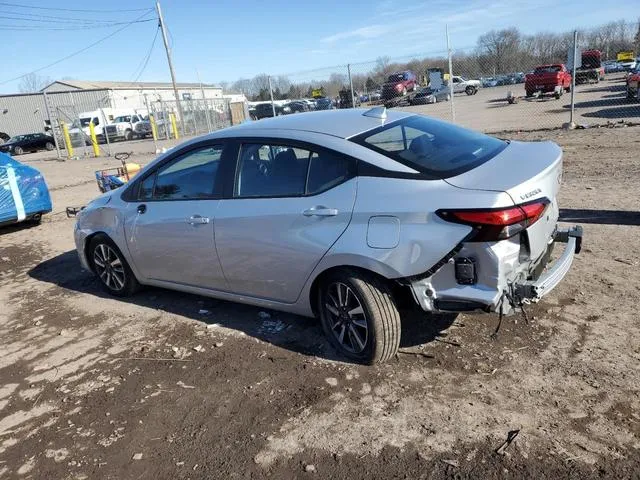
[[498,155],[446,181],[466,190],[507,193],[515,205],[546,198],[549,207],[526,231],[532,260],[544,254],[558,221],[562,150],[553,142],[512,141]]

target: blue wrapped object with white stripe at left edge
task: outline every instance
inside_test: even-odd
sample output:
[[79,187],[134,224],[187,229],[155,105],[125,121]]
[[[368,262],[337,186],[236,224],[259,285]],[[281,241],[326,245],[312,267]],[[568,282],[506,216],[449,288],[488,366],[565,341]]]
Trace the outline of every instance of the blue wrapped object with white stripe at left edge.
[[38,170],[0,152],[0,224],[51,211],[51,197]]

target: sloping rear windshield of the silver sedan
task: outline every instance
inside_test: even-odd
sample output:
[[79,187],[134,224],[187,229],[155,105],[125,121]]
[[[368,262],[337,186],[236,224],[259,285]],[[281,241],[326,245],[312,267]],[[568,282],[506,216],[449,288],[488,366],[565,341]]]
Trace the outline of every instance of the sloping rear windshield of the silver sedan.
[[472,170],[507,146],[504,140],[422,116],[384,125],[352,141],[434,179]]

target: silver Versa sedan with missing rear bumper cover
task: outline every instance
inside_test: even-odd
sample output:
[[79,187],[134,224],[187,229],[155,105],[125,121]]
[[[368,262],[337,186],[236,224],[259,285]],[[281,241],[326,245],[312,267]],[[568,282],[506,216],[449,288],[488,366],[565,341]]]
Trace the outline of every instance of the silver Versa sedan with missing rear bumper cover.
[[384,107],[282,116],[161,154],[80,211],[74,238],[112,295],[318,316],[339,352],[376,363],[398,351],[404,301],[510,314],[562,280],[582,233],[558,225],[561,176],[552,142]]

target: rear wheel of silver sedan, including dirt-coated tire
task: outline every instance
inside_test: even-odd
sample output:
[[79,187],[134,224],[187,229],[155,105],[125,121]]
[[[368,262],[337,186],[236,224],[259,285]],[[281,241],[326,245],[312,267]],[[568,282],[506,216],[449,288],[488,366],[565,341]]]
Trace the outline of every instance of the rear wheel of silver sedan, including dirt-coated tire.
[[[337,288],[344,286],[349,289],[350,293],[346,295],[345,302],[350,306],[338,306],[341,302],[337,301],[336,285]],[[352,300],[352,303],[349,304],[351,294],[355,296],[357,303]],[[341,298],[344,298],[344,295]],[[347,313],[354,305],[357,305],[357,308],[350,310],[350,312],[359,308],[362,310],[362,314],[351,315]],[[340,315],[336,315],[338,310],[336,306],[340,308]],[[331,344],[346,357],[360,363],[373,365],[389,360],[397,354],[401,333],[400,314],[389,286],[381,278],[370,273],[349,269],[331,274],[320,286],[318,311],[325,335]],[[360,315],[362,316],[360,317]],[[357,319],[356,316],[358,316]],[[363,331],[364,327],[362,326],[365,323],[366,332]],[[347,329],[349,329],[348,332]],[[355,330],[360,333],[352,335]],[[342,343],[339,340],[340,333],[342,333]],[[365,334],[364,339],[362,333]],[[345,339],[345,336],[349,338]],[[356,341],[356,336],[359,342]],[[351,348],[344,343],[345,341],[349,342]],[[359,348],[359,346],[363,347]]]

